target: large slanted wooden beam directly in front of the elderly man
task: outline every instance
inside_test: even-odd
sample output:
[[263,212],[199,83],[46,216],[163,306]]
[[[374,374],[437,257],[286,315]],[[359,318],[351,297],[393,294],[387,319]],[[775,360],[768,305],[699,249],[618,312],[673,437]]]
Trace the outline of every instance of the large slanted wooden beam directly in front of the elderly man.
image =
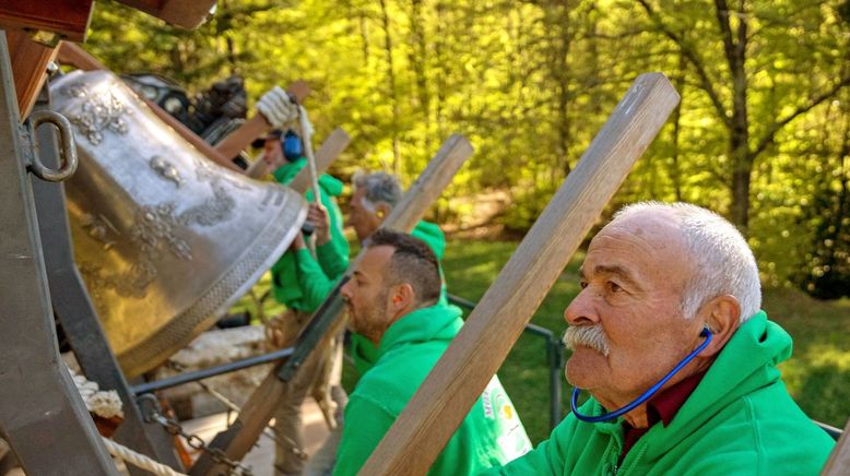
[[359,474],[427,472],[677,103],[663,74],[635,81]]

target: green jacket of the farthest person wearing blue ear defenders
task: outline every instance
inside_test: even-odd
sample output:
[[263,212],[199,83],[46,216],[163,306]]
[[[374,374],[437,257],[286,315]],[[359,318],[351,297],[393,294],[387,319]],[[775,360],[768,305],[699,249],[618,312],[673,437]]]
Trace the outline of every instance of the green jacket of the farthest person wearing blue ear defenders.
[[[282,185],[288,185],[307,165],[307,158],[302,157],[274,170],[274,179]],[[272,290],[278,302],[287,308],[303,312],[312,312],[319,308],[328,296],[331,287],[323,286],[326,281],[333,282],[349,267],[349,241],[342,233],[342,212],[337,205],[335,197],[342,193],[342,182],[329,175],[319,177],[319,201],[330,215],[331,239],[316,247],[316,259],[306,249],[285,253],[272,266]],[[312,201],[312,189],[306,193],[307,201]],[[322,294],[324,293],[324,294]]]

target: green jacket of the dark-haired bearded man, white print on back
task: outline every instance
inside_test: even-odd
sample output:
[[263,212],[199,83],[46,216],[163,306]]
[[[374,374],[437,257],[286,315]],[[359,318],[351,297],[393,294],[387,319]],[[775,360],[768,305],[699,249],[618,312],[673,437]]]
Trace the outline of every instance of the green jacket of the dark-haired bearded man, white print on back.
[[[454,306],[417,309],[381,337],[378,359],[345,407],[334,475],[354,475],[463,326]],[[526,429],[495,376],[437,456],[429,474],[469,475],[531,449]]]

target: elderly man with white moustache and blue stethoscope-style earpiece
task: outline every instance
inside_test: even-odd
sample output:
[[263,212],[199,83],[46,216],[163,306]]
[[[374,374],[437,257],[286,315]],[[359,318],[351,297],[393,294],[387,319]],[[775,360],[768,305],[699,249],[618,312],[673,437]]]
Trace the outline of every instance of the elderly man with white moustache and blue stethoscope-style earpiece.
[[[572,414],[501,474],[817,474],[834,441],[776,366],[741,234],[708,210],[638,203],[591,241],[564,342]],[[578,405],[581,391],[590,398]]]

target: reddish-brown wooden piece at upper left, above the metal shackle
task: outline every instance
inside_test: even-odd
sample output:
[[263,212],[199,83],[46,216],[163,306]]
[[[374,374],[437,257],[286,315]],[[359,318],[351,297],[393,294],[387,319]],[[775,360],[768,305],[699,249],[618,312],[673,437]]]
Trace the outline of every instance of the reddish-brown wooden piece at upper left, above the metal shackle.
[[47,80],[47,64],[56,58],[57,49],[33,41],[21,29],[5,32],[9,56],[12,60],[12,76],[17,96],[21,119],[29,116],[36,97]]

